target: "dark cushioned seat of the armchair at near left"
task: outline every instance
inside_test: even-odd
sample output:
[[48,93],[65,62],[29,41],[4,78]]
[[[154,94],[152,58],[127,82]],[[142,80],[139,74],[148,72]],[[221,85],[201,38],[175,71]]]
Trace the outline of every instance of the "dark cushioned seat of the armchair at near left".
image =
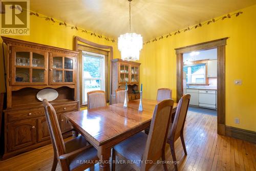
[[[83,136],[78,136],[70,141],[65,143],[67,153],[73,152],[76,149],[84,147],[87,145],[87,140]],[[69,158],[69,169],[73,170],[77,167],[86,164],[86,161],[98,160],[97,149],[94,147],[87,148],[83,152],[79,153],[76,156]],[[87,164],[86,164],[87,165]],[[93,165],[93,163],[88,163],[88,165]]]

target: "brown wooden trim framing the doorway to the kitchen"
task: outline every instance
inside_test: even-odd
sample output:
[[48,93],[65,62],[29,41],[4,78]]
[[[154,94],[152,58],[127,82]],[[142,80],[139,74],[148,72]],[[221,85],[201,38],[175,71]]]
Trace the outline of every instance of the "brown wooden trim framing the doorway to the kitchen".
[[196,45],[176,48],[177,56],[177,101],[183,95],[183,53],[191,51],[206,50],[217,48],[218,66],[217,66],[217,104],[218,104],[218,126],[217,131],[220,135],[225,135],[225,46],[228,37],[203,42]]

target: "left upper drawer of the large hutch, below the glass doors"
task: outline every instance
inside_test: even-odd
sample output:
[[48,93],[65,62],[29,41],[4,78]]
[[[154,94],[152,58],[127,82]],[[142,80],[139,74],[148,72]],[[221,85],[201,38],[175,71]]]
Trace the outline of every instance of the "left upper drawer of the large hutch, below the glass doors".
[[13,111],[7,114],[8,122],[30,119],[35,117],[45,116],[44,108],[39,108],[36,110],[23,110],[23,111]]

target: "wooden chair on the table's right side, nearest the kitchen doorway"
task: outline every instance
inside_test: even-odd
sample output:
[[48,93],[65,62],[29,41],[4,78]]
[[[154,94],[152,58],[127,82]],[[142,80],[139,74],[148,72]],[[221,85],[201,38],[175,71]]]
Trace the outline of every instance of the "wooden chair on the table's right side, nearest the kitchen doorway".
[[[183,129],[184,129],[184,124],[187,116],[189,100],[190,100],[190,94],[186,94],[181,97],[177,106],[174,122],[171,123],[169,126],[167,143],[170,145],[170,152],[172,153],[173,161],[177,161],[176,155],[175,155],[174,142],[179,137],[181,139],[184,153],[185,155],[187,155],[184,136],[183,136]],[[178,166],[176,162],[174,166],[175,166],[175,170],[178,170]]]

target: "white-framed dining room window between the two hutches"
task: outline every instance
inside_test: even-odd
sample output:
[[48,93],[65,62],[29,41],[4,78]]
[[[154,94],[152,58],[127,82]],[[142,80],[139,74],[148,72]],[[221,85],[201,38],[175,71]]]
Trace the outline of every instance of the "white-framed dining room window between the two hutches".
[[105,91],[105,56],[82,51],[82,104],[87,103],[87,93]]

